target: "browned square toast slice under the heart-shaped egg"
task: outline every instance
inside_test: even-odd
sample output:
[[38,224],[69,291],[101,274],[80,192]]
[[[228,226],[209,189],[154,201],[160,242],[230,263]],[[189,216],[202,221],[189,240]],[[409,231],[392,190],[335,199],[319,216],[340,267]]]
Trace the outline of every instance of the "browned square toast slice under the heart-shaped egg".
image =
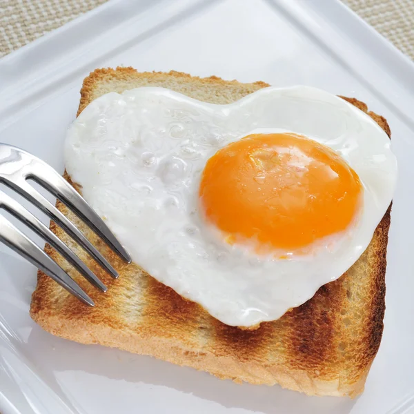
[[[88,103],[107,92],[139,86],[164,86],[201,101],[229,103],[268,85],[217,77],[200,79],[179,72],[100,69],[83,81],[78,115]],[[367,112],[364,103],[344,99]],[[389,136],[386,120],[367,113]],[[70,181],[66,172],[65,177]],[[66,206],[58,201],[57,207],[106,255],[120,277],[113,280],[106,275],[52,222],[52,231],[103,280],[108,293],[92,288],[46,245],[46,252],[96,304],[95,308],[81,304],[39,271],[30,315],[46,331],[83,344],[152,355],[235,382],[280,384],[308,395],[354,397],[363,391],[382,337],[391,207],[362,257],[342,277],[322,286],[312,299],[281,319],[263,323],[253,331],[222,324],[136,264],[121,262]]]

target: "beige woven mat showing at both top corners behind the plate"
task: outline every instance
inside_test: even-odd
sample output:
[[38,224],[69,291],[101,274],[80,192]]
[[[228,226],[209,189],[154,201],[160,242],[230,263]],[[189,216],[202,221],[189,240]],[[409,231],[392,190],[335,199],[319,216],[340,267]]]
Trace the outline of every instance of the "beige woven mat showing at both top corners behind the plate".
[[[343,1],[378,32],[388,37],[397,48],[414,59],[414,0]],[[0,57],[105,2],[106,0],[0,0]]]

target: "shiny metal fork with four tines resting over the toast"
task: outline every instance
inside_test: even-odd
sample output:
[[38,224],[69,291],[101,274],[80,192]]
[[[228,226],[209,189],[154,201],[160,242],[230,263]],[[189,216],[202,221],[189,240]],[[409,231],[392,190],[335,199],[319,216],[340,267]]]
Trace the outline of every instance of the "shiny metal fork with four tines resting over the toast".
[[[95,213],[86,201],[70,186],[66,179],[61,177],[57,171],[48,166],[41,159],[34,157],[28,152],[14,146],[0,144],[0,182],[12,188],[14,191],[28,199],[43,213],[46,213],[61,226],[63,230],[80,244],[112,277],[118,277],[109,262],[69,221],[53,204],[51,204],[41,193],[28,183],[32,179],[40,186],[55,195],[63,204],[66,204],[84,223],[86,223],[99,237],[101,237],[112,250],[115,251],[126,262],[131,258],[128,252],[121,246],[106,224]],[[46,242],[57,250],[72,266],[74,266],[88,282],[106,292],[106,286],[92,273],[75,253],[64,244],[52,231],[50,231],[37,217],[34,217],[26,208],[16,200],[0,190],[0,208],[8,211],[11,215],[22,221],[34,230]],[[75,295],[85,304],[94,306],[94,302],[80,288],[80,286],[65,272],[54,260],[50,258],[37,244],[32,242],[26,235],[21,233],[6,217],[0,215],[0,242],[3,242],[19,255],[28,259],[43,273],[52,277],[63,288]]]

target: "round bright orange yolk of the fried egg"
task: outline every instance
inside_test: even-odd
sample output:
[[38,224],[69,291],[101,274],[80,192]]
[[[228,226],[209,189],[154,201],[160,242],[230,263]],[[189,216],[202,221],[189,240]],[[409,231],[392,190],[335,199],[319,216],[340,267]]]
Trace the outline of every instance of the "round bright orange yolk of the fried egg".
[[331,148],[290,133],[256,134],[208,159],[199,201],[228,243],[294,251],[346,230],[362,193],[357,173]]

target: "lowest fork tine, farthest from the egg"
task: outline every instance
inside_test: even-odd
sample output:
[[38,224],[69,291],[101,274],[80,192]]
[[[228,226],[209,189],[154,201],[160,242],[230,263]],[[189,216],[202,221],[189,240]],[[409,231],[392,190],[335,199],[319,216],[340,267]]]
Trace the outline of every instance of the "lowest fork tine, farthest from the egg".
[[25,257],[30,263],[39,268],[43,273],[52,277],[69,293],[75,295],[84,304],[95,306],[92,299],[81,289],[55,261],[46,255],[37,244],[34,244],[26,235],[23,235],[5,217],[0,215],[0,241],[12,248],[19,255]]

